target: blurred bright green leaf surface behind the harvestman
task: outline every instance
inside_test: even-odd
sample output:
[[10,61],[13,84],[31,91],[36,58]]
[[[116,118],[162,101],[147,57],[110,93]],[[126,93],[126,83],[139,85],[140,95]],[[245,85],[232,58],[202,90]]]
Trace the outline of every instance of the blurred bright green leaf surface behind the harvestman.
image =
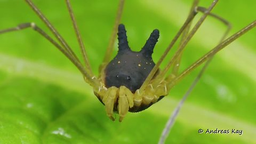
[[[80,57],[64,1],[34,2]],[[98,74],[118,1],[71,4],[93,71]],[[122,23],[130,47],[140,50],[158,28],[161,36],[153,54],[157,61],[185,21],[190,5],[188,0],[127,1]],[[255,20],[255,6],[256,1],[226,0],[213,12],[232,23],[233,34]],[[33,21],[50,34],[23,1],[0,0],[0,18],[0,29]],[[225,28],[208,18],[187,46],[181,69],[216,45]],[[182,107],[166,143],[256,143],[255,39],[254,28],[216,55]],[[0,143],[157,143],[198,71],[149,109],[127,114],[122,123],[112,122],[79,71],[52,44],[31,29],[0,35]],[[243,134],[198,134],[198,129],[236,129]]]

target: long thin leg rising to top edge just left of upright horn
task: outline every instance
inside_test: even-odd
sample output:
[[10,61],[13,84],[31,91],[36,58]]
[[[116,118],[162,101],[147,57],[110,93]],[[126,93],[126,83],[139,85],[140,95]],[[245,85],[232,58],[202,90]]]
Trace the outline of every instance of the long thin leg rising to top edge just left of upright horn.
[[123,8],[124,8],[124,2],[125,0],[119,0],[119,4],[118,4],[118,10],[117,10],[117,14],[116,14],[116,19],[115,19],[115,24],[109,39],[109,43],[108,43],[108,47],[107,47],[107,51],[105,53],[105,57],[103,59],[103,62],[101,64],[101,66],[99,67],[99,73],[101,72],[102,68],[104,68],[107,63],[110,61],[111,59],[111,55],[113,53],[114,50],[114,42],[117,36],[117,28],[118,25],[121,21],[122,18],[122,13],[123,13]]

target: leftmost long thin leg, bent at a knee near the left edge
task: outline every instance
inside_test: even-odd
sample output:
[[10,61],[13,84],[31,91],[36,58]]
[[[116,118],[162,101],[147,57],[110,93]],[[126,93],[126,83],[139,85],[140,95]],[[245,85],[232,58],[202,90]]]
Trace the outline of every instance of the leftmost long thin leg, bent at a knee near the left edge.
[[81,65],[81,63],[77,62],[71,55],[68,53],[65,49],[63,49],[62,46],[60,46],[57,42],[55,42],[49,35],[47,35],[41,28],[37,27],[35,23],[21,23],[17,27],[8,28],[4,30],[0,30],[0,34],[9,33],[11,31],[18,31],[26,28],[32,28],[35,31],[37,31],[40,35],[42,35],[44,38],[46,38],[49,42],[51,42],[55,47],[57,47],[74,65],[78,68],[79,71],[84,75],[84,77],[87,77],[88,83],[94,87],[99,87],[99,84],[93,81],[92,78],[86,73],[84,67]]

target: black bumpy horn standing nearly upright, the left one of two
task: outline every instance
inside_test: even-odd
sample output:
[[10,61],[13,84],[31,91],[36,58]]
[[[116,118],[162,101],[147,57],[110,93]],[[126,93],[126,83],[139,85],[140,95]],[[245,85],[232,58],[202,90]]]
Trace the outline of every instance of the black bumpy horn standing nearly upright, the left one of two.
[[126,30],[123,24],[118,26],[118,52],[123,50],[130,50],[128,45]]

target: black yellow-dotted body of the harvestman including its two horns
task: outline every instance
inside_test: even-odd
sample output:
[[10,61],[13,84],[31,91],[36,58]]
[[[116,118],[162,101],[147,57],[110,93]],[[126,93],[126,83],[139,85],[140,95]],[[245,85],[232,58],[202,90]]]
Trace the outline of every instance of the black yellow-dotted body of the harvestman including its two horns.
[[[123,85],[134,93],[140,88],[155,66],[152,54],[159,38],[159,30],[153,30],[145,46],[139,52],[134,52],[130,49],[124,25],[119,25],[117,35],[118,53],[105,69],[105,85],[106,87],[120,87]],[[149,106],[143,106],[141,109],[131,108],[134,109],[131,111],[141,111]]]

